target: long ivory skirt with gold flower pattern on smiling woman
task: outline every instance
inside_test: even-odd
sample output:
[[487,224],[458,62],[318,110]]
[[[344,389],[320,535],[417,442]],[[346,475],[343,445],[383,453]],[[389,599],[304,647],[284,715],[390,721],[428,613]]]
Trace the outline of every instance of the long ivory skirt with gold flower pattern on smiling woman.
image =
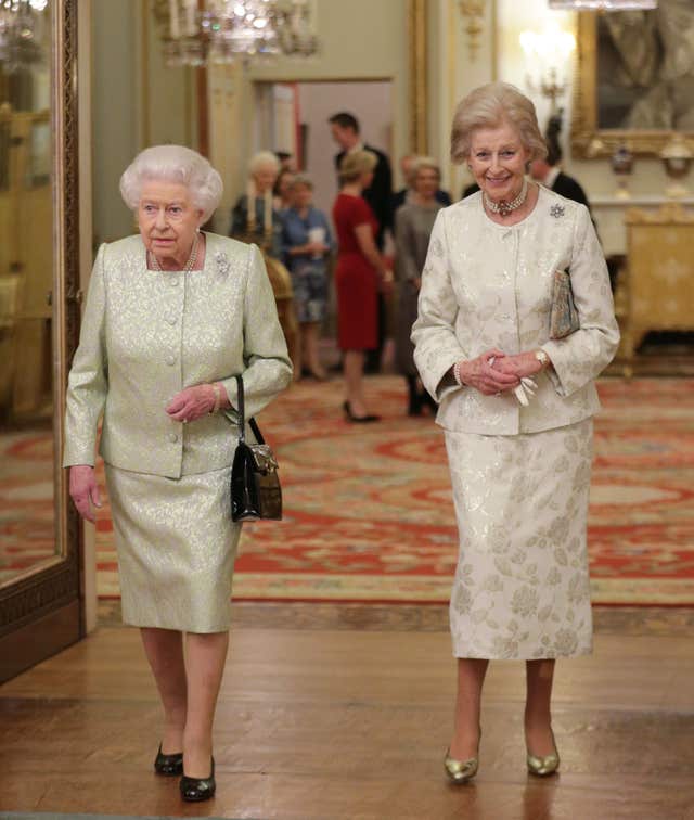
[[592,419],[516,436],[446,431],[460,533],[455,657],[592,651],[586,530]]

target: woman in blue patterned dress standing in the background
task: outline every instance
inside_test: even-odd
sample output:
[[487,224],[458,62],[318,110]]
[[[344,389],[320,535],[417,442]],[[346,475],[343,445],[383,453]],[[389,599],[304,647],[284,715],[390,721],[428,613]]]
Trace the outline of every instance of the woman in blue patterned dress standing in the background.
[[333,238],[325,214],[313,206],[313,183],[297,176],[290,191],[292,205],[282,212],[282,245],[300,328],[294,377],[300,379],[304,372],[323,381],[326,374],[318,342],[327,304],[327,260]]

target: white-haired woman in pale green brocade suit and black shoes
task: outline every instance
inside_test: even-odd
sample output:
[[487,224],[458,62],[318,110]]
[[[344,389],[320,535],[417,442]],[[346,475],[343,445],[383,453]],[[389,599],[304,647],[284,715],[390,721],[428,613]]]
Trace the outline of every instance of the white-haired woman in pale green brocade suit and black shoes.
[[[246,411],[291,381],[255,245],[201,232],[221,179],[190,149],[139,154],[120,180],[140,234],[99,248],[69,374],[70,495],[94,520],[97,427],[123,615],[139,626],[164,705],[154,764],[185,800],[215,793],[211,729],[229,642],[240,525],[231,521],[234,375]],[[185,652],[183,651],[185,650]]]

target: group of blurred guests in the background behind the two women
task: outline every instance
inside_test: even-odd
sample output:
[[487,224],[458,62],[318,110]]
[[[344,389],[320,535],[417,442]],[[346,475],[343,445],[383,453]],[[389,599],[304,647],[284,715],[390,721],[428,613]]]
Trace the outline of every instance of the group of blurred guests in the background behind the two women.
[[[402,157],[404,187],[393,191],[388,156],[367,144],[359,120],[348,112],[329,119],[334,141],[338,192],[331,220],[313,204],[311,180],[296,172],[294,157],[262,151],[250,161],[246,192],[233,208],[230,235],[257,243],[266,257],[278,302],[294,377],[327,377],[320,358],[320,336],[329,304],[333,255],[337,307],[337,344],[344,374],[345,418],[355,423],[378,421],[367,407],[365,372],[381,369],[387,336],[395,341],[395,366],[407,383],[407,412],[434,412],[424,389],[410,341],[416,318],[421,271],[440,208],[452,204],[440,187],[441,170],[428,156]],[[561,121],[548,126],[547,157],[528,168],[532,179],[588,206],[580,184],[560,169]],[[478,190],[466,187],[461,198]],[[384,255],[386,235],[391,255]]]

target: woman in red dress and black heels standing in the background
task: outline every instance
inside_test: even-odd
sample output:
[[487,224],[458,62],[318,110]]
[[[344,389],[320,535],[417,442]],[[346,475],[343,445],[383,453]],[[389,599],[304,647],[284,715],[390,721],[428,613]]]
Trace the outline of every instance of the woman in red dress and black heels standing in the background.
[[343,350],[345,415],[351,422],[378,421],[368,412],[363,395],[364,350],[378,345],[378,287],[390,287],[393,273],[378,253],[374,236],[378,222],[365,200],[376,156],[371,151],[347,154],[339,166],[340,190],[333,206],[339,242],[337,287],[337,341]]

